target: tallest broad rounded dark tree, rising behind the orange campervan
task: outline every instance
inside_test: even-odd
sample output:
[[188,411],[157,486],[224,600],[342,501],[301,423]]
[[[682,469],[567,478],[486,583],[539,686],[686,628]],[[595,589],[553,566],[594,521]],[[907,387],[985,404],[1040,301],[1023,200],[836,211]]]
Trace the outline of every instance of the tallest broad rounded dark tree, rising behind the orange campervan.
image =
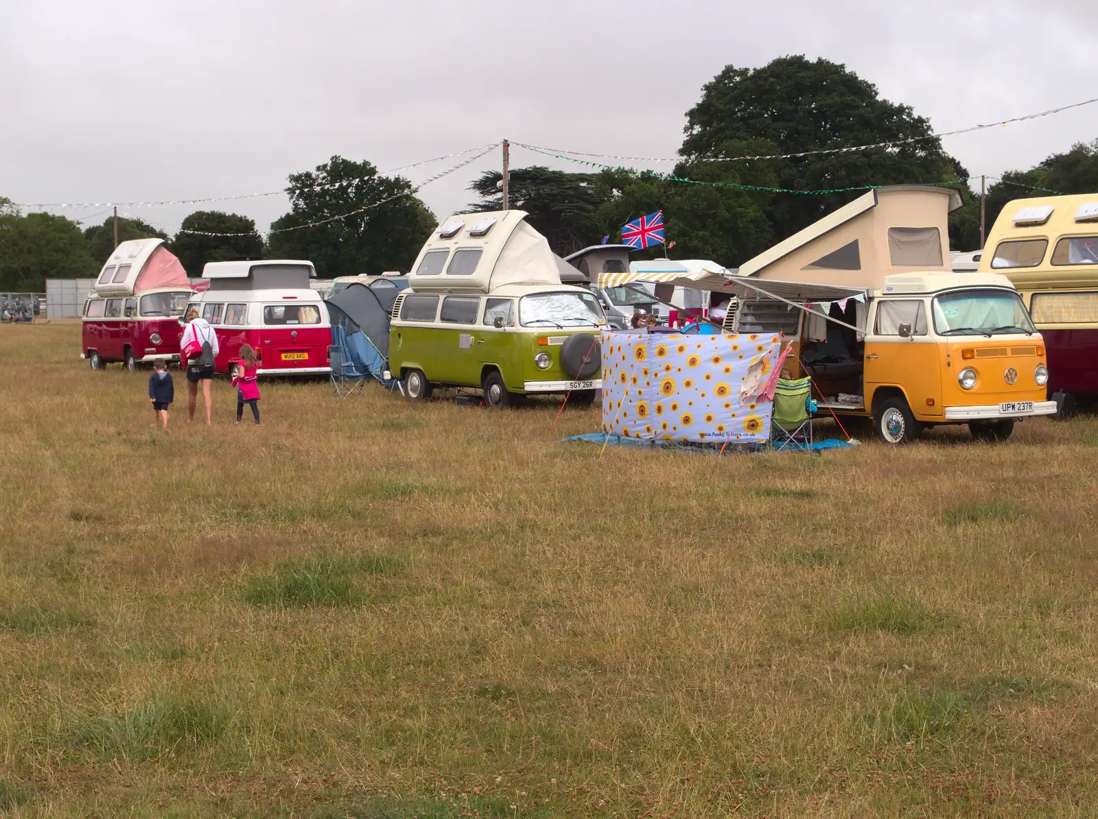
[[[930,123],[907,105],[877,96],[871,82],[842,65],[804,56],[781,57],[761,68],[727,66],[702,91],[687,113],[680,154],[692,164],[713,157],[742,156],[754,139],[769,145],[759,154],[792,154],[852,145],[929,137]],[[866,184],[940,182],[950,178],[950,158],[937,138],[895,147],[788,159],[736,162],[770,164],[791,190],[833,190]],[[860,195],[781,194],[768,204],[776,239],[785,238]]]

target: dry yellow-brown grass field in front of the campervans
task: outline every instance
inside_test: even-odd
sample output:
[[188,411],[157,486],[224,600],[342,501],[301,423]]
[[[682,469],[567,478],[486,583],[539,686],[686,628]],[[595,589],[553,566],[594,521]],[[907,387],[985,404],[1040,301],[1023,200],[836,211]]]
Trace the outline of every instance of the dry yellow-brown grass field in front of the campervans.
[[1095,810],[1093,417],[600,457],[318,382],[188,425],[177,371],[165,434],[78,339],[0,326],[0,814]]

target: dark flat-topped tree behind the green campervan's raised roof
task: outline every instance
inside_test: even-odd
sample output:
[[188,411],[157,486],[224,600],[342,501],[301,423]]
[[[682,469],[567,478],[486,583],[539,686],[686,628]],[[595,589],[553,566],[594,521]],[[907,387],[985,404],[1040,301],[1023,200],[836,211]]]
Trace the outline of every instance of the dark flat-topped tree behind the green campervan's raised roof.
[[[596,173],[568,173],[542,166],[515,168],[511,171],[507,200],[511,207],[529,213],[528,221],[554,253],[568,256],[589,245],[598,244],[605,235],[595,218],[603,204],[596,186]],[[481,195],[470,210],[498,211],[503,206],[501,182],[503,173],[482,173],[469,190]]]

